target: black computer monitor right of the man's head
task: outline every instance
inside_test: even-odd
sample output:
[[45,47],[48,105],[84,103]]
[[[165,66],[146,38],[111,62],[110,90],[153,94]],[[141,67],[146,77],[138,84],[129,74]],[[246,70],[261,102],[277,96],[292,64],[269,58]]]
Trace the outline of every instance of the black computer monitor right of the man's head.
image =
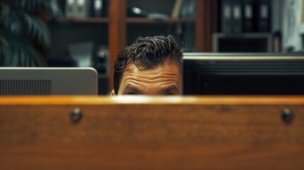
[[304,54],[184,53],[185,95],[303,95]]

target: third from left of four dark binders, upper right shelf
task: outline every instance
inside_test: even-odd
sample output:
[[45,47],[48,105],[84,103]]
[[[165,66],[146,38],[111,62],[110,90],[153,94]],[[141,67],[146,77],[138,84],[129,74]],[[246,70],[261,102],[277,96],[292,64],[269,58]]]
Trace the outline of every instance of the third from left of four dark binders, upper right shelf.
[[245,0],[243,4],[244,33],[254,32],[254,0]]

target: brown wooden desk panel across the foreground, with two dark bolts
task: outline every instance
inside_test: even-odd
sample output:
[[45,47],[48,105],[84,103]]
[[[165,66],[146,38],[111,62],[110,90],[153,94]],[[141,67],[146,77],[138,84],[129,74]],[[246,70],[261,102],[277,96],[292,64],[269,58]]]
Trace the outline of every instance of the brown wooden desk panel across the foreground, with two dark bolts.
[[[0,169],[303,169],[304,97],[0,98]],[[83,111],[73,123],[69,113]],[[284,123],[281,112],[295,113]]]

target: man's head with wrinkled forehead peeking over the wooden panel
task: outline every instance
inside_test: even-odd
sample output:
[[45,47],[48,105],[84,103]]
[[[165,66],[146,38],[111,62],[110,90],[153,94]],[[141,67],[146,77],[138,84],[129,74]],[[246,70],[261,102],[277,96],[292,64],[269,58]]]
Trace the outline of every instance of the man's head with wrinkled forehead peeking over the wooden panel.
[[182,52],[171,35],[138,38],[116,58],[111,95],[181,94]]

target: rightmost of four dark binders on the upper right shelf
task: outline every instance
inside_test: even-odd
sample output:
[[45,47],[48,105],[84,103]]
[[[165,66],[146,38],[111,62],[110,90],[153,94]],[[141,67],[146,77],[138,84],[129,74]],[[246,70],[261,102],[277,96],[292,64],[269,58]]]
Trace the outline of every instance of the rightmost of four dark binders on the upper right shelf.
[[258,4],[258,30],[261,33],[270,31],[270,0],[259,0]]

